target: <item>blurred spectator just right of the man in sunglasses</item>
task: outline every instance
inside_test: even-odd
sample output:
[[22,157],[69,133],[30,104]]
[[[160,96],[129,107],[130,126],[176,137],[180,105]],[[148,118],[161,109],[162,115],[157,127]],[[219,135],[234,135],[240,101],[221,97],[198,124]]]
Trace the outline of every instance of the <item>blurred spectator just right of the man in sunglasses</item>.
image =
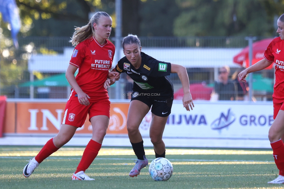
[[232,75],[232,81],[236,88],[236,100],[248,100],[248,83],[241,82],[238,77],[238,74],[244,69],[246,68],[241,67]]

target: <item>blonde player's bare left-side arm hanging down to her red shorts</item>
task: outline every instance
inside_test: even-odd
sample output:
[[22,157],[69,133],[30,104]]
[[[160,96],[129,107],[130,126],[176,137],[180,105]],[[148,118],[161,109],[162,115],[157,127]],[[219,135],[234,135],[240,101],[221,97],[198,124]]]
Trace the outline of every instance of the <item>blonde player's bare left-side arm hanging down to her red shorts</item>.
[[75,79],[75,76],[74,76],[77,69],[78,69],[78,67],[76,67],[72,64],[69,64],[69,66],[66,70],[66,73],[65,73],[65,77],[66,77],[68,83],[71,85],[71,87],[77,93],[79,103],[83,104],[85,106],[88,106],[90,104],[90,102],[88,100],[88,99],[90,99],[90,97],[82,91],[82,89],[78,85],[78,83]]

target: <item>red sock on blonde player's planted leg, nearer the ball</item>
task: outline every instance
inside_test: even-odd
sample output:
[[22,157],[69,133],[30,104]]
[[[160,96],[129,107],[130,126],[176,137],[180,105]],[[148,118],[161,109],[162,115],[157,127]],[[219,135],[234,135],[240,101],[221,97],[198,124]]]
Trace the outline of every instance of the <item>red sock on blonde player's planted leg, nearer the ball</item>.
[[87,144],[82,159],[77,167],[77,170],[75,173],[80,171],[86,171],[88,167],[91,165],[91,163],[94,161],[94,159],[97,157],[97,154],[99,153],[99,150],[101,149],[102,144],[90,140],[90,142]]

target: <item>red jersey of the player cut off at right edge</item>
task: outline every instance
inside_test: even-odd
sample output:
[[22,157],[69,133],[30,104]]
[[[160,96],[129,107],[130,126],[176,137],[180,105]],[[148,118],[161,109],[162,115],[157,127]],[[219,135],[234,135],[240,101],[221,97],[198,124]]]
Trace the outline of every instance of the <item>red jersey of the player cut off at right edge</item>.
[[284,40],[275,38],[264,52],[264,58],[275,65],[273,104],[284,102]]

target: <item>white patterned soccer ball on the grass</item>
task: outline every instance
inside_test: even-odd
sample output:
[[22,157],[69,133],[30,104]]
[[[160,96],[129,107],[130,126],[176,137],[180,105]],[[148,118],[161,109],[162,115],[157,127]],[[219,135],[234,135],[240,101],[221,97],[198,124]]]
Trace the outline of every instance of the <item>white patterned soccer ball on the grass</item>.
[[155,181],[167,181],[173,174],[173,165],[166,158],[156,158],[149,165],[149,174]]

